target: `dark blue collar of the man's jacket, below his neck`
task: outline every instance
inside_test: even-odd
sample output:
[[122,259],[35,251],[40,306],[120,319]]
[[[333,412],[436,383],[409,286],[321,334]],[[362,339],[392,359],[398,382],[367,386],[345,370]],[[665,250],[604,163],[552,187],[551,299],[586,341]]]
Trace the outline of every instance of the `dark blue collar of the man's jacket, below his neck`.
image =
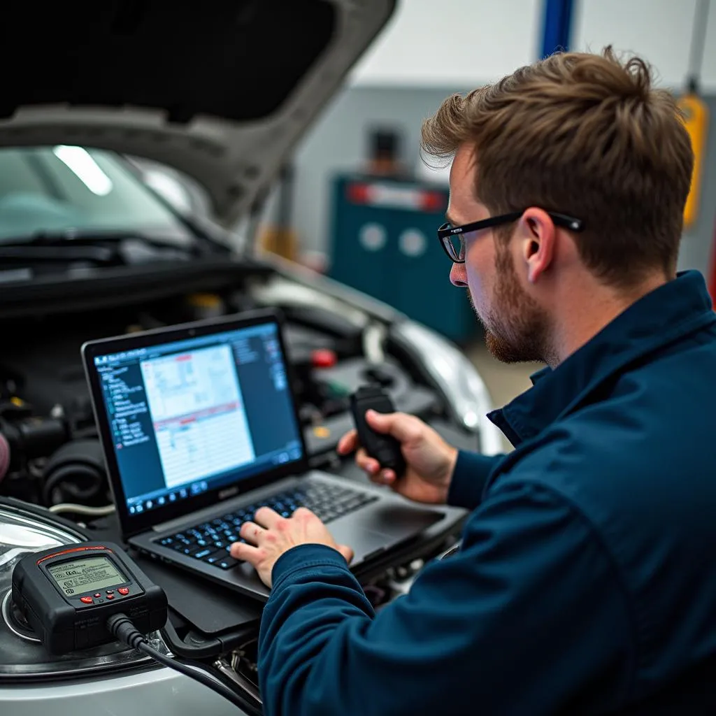
[[488,418],[518,445],[574,410],[627,364],[715,322],[703,276],[684,271],[629,306],[558,367],[534,374],[533,387]]

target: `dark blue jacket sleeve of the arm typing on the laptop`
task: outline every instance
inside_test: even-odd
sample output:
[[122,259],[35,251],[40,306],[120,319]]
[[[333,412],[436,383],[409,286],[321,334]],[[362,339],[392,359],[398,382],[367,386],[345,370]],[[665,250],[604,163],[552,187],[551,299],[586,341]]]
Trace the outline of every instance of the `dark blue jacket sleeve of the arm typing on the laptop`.
[[624,596],[591,527],[535,485],[490,493],[463,548],[374,614],[326,546],[285,553],[259,637],[266,716],[590,713],[619,703]]

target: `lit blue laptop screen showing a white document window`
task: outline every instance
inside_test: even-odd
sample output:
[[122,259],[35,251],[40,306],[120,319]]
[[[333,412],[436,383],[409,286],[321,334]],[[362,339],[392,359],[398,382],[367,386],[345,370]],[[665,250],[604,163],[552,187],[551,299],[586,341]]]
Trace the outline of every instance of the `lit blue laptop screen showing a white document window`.
[[130,515],[303,458],[278,332],[271,321],[94,355]]

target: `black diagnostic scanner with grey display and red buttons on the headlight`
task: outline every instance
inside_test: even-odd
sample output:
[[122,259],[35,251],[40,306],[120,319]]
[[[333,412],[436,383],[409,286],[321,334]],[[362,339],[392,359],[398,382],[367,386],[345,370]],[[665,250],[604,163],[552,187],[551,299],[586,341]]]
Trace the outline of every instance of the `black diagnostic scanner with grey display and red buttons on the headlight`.
[[12,599],[51,654],[115,641],[107,619],[125,614],[148,634],[167,621],[164,590],[111,542],[82,542],[26,555]]

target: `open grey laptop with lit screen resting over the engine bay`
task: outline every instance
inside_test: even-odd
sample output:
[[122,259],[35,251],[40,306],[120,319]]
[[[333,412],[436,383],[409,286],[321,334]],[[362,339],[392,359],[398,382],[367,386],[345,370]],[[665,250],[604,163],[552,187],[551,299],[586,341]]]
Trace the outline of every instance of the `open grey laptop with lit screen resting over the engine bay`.
[[122,538],[142,553],[265,600],[229,553],[261,505],[314,511],[352,569],[452,512],[309,469],[279,311],[91,341],[82,360]]

